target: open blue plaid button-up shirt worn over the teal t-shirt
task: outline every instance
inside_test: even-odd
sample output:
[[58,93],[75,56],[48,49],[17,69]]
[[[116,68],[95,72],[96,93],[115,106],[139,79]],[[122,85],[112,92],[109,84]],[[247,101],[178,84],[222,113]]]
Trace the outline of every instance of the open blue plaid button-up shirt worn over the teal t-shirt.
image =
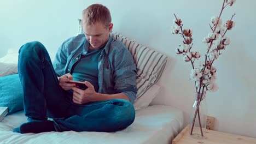
[[[88,52],[89,42],[84,34],[64,41],[56,53],[53,67],[58,76],[71,73],[75,62]],[[98,58],[98,93],[127,95],[136,99],[136,65],[127,47],[109,36]]]

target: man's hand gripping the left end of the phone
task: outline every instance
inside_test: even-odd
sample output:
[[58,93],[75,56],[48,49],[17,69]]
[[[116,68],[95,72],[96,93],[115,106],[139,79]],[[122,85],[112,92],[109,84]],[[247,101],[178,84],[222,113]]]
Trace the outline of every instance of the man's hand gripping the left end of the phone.
[[68,83],[68,81],[73,80],[73,76],[69,73],[62,75],[59,78],[59,85],[65,89],[66,91],[72,89],[72,87],[75,87],[74,83]]

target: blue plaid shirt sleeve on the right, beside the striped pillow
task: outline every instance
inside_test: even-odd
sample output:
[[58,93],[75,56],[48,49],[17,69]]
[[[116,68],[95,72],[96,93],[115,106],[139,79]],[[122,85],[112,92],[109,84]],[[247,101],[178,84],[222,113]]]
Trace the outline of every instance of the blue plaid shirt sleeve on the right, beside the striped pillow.
[[124,47],[115,57],[114,88],[118,93],[127,95],[131,103],[136,99],[136,64],[130,51]]

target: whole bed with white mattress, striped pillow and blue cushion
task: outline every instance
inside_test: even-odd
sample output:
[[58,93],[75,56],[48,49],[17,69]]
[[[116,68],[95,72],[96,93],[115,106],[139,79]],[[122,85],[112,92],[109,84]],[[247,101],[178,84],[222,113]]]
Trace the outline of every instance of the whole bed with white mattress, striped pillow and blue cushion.
[[[81,32],[80,28],[79,31]],[[126,129],[114,133],[13,133],[14,128],[27,121],[22,111],[23,93],[19,75],[16,74],[18,50],[9,50],[6,56],[0,58],[0,106],[8,106],[9,112],[12,113],[0,122],[0,143],[171,143],[183,129],[183,112],[172,106],[150,105],[161,91],[157,82],[167,63],[167,56],[119,33],[112,32],[110,35],[127,46],[137,66],[138,92],[133,104],[136,110],[135,122]],[[10,85],[12,90],[8,87]]]

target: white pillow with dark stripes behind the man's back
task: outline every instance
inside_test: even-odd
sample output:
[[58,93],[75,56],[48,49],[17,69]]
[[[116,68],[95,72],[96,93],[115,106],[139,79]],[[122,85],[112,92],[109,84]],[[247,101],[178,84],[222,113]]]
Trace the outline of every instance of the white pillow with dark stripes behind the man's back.
[[[78,19],[79,30],[78,34],[83,33],[81,20]],[[167,63],[167,56],[149,49],[148,47],[138,44],[133,40],[124,37],[116,32],[111,32],[110,35],[114,39],[122,41],[131,52],[137,67],[137,97],[136,100],[141,98],[142,95],[152,87],[162,75],[162,71]]]

